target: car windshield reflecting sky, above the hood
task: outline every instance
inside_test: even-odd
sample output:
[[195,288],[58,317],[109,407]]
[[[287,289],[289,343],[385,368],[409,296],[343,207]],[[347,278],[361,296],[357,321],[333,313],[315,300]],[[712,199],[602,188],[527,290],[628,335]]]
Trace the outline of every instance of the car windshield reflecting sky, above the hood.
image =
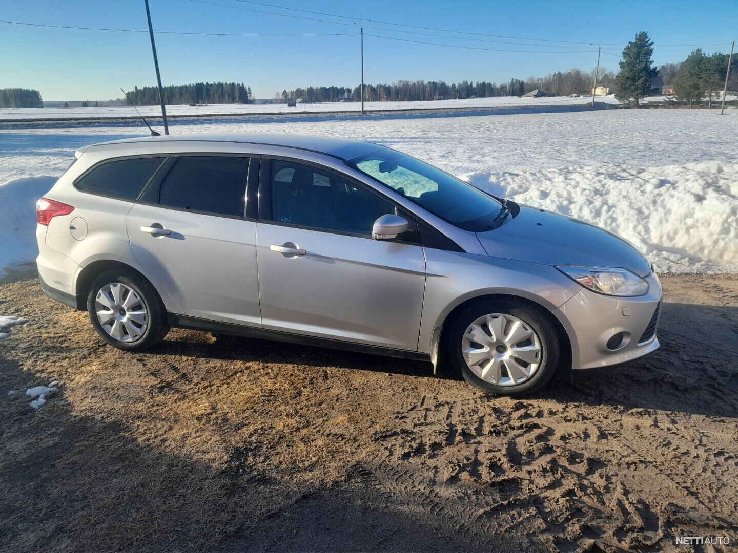
[[492,196],[396,150],[368,153],[346,164],[463,230],[489,230],[500,214],[502,206]]

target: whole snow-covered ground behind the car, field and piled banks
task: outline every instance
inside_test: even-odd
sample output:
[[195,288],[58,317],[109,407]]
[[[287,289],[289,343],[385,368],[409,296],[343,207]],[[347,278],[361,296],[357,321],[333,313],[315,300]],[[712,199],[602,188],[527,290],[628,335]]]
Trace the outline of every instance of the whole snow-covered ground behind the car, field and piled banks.
[[[305,119],[190,119],[173,123],[170,132],[283,132],[370,140],[494,194],[621,234],[645,251],[659,271],[738,272],[738,110],[732,107],[725,116],[680,109]],[[63,173],[77,147],[144,134],[139,124],[105,122],[0,126],[0,268],[35,257],[33,205]]]

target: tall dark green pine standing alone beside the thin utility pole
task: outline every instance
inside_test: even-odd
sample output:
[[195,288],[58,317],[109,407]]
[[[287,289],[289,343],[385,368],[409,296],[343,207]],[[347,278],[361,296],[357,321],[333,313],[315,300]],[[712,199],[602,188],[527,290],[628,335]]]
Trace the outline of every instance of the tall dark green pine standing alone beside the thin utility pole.
[[635,35],[635,41],[631,41],[623,49],[623,60],[620,62],[620,72],[615,77],[618,91],[615,98],[621,102],[635,104],[641,98],[648,96],[656,69],[652,67],[653,41],[649,39],[645,31]]

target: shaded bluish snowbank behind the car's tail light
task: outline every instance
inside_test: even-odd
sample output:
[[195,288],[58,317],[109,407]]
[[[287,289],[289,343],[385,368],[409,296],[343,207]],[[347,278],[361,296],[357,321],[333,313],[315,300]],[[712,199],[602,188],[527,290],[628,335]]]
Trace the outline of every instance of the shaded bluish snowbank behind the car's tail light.
[[3,268],[33,261],[36,247],[36,200],[56,182],[57,177],[13,178],[0,184],[0,277]]

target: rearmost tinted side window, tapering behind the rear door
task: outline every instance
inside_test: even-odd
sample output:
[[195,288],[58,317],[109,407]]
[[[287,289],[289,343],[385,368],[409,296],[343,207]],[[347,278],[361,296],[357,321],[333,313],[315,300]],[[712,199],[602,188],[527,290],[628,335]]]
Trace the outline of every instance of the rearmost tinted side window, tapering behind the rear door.
[[108,161],[80,178],[75,187],[121,200],[135,200],[164,160],[164,157],[153,157]]

